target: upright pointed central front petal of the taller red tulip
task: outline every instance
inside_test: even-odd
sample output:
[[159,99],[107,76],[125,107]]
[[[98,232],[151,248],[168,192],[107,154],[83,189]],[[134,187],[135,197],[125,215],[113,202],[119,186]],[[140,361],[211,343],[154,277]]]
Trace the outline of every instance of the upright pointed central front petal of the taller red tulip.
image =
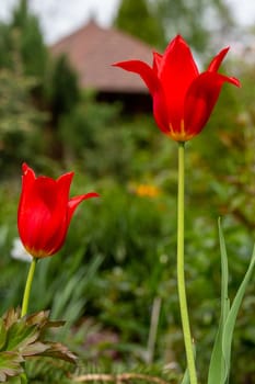
[[176,131],[181,128],[186,92],[197,76],[198,69],[192,52],[178,35],[167,46],[158,72],[166,98],[170,122]]

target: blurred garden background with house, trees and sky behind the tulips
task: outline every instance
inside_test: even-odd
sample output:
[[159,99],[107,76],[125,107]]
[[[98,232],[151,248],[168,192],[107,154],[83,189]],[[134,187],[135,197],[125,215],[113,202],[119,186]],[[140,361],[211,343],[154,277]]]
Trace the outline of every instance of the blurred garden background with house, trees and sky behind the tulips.
[[[60,255],[39,262],[31,310],[68,320],[61,338],[80,372],[149,372],[176,383],[185,369],[176,291],[177,146],[152,118],[141,80],[111,67],[151,63],[177,33],[200,70],[231,46],[225,84],[202,134],[187,145],[186,276],[197,364],[206,381],[219,321],[222,216],[232,298],[255,229],[255,3],[227,0],[1,0],[0,301],[22,300],[27,263],[16,244],[21,165],[71,193],[79,207]],[[232,384],[255,383],[254,278],[234,332]],[[33,365],[34,364],[34,365]],[[59,368],[58,368],[59,369]],[[65,383],[31,363],[31,382]],[[44,375],[42,375],[44,372]],[[60,379],[59,379],[60,377]]]

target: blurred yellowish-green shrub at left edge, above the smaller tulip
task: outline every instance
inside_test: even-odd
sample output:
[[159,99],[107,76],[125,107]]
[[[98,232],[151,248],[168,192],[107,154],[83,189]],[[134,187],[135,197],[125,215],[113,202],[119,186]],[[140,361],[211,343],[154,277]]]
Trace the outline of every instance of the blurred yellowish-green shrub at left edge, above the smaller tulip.
[[40,139],[46,120],[31,102],[32,78],[9,69],[0,71],[0,170],[1,178],[22,160],[32,161],[44,149]]

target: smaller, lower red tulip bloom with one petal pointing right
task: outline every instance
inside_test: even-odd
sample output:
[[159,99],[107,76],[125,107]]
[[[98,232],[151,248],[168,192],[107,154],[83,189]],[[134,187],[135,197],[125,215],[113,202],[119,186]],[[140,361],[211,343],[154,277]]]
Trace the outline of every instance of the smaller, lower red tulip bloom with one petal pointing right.
[[69,199],[73,172],[57,180],[35,177],[26,163],[22,166],[22,192],[18,211],[18,228],[25,249],[34,258],[56,253],[67,236],[77,206],[85,199],[98,196],[91,192]]

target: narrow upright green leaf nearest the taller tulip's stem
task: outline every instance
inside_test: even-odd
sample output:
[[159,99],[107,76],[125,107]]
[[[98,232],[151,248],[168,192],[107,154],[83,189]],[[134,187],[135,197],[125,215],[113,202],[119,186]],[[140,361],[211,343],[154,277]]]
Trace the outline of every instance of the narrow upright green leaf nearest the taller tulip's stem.
[[208,384],[223,384],[224,383],[224,355],[222,351],[222,332],[223,327],[230,310],[230,301],[228,294],[229,285],[229,267],[228,255],[225,248],[224,236],[221,227],[221,221],[219,218],[219,240],[220,240],[220,253],[221,253],[221,314],[220,323],[217,331],[211,360],[208,373]]

